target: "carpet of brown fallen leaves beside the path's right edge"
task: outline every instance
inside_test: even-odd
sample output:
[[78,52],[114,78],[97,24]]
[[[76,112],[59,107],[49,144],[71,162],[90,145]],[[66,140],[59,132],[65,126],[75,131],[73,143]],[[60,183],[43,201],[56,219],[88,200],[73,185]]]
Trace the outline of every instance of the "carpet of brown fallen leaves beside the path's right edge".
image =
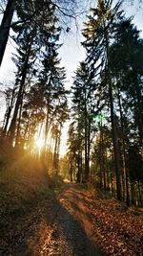
[[142,255],[143,218],[115,199],[92,199],[92,238],[109,255]]

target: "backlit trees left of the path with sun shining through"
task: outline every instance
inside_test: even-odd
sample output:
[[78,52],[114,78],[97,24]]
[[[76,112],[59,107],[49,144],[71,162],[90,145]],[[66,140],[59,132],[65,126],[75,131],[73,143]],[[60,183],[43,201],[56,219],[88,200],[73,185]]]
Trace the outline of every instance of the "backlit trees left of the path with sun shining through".
[[[0,64],[9,37],[16,45],[14,86],[4,91],[7,109],[1,143],[36,156],[41,151],[56,172],[61,129],[69,112],[66,70],[58,50],[65,22],[69,24],[76,8],[76,1],[68,0],[1,1]],[[40,149],[38,140],[43,142]]]

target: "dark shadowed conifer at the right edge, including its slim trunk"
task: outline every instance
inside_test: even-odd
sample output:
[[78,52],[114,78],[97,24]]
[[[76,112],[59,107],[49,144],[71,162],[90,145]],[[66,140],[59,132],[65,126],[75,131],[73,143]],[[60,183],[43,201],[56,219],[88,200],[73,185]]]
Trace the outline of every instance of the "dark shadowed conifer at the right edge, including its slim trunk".
[[[115,78],[120,108],[122,128],[123,165],[125,169],[127,203],[129,198],[129,171],[127,168],[127,149],[132,140],[142,147],[142,39],[131,19],[122,20],[117,27],[111,47],[112,77]],[[125,99],[126,95],[126,101]],[[121,101],[124,105],[121,104]],[[126,117],[126,124],[125,122]],[[126,128],[125,128],[126,127]],[[128,132],[126,132],[128,128]],[[132,130],[132,132],[131,132]],[[137,131],[138,130],[138,131]],[[137,135],[137,136],[136,136]],[[139,150],[138,150],[139,151]],[[133,183],[133,181],[132,181]],[[132,185],[133,186],[133,185]],[[132,188],[133,190],[133,188]]]

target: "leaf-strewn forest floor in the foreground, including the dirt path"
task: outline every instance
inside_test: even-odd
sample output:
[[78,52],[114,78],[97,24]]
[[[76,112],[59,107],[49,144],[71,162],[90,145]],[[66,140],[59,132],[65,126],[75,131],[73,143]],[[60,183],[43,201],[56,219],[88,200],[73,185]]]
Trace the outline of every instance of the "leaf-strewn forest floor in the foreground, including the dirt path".
[[142,214],[73,183],[4,234],[4,256],[143,255]]

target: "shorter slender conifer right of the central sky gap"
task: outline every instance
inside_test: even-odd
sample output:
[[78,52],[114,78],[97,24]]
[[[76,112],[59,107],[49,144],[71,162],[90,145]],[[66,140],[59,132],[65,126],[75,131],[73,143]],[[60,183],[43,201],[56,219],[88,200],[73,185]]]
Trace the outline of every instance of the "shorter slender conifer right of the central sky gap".
[[[73,119],[76,122],[78,134],[83,134],[85,176],[87,181],[90,175],[90,151],[92,135],[92,113],[94,111],[94,83],[92,74],[86,63],[80,62],[75,72],[72,85]],[[79,136],[80,137],[80,136]],[[80,138],[79,138],[80,139]]]

